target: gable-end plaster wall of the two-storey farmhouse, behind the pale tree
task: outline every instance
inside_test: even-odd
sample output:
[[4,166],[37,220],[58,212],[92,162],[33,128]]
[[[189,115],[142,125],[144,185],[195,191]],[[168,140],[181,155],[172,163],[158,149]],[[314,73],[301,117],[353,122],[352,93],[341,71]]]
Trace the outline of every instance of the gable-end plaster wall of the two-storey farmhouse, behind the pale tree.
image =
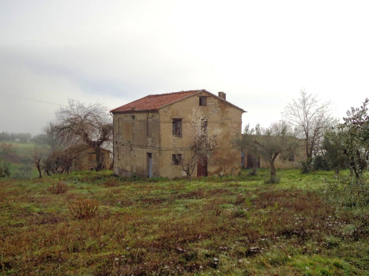
[[[208,96],[207,106],[199,106],[199,96]],[[208,129],[221,128],[221,138],[218,147],[211,153],[208,160],[208,175],[237,174],[241,170],[241,151],[234,149],[232,140],[240,137],[242,125],[242,111],[229,104],[211,97],[207,93],[192,96],[180,102],[169,105],[159,110],[161,132],[161,175],[170,177],[182,177],[184,174],[180,166],[172,165],[170,137],[172,136],[173,118],[182,119],[182,138],[178,146],[189,148],[190,139],[186,136],[189,131],[189,116],[193,107],[199,107],[206,114]],[[197,168],[193,176],[196,177]]]

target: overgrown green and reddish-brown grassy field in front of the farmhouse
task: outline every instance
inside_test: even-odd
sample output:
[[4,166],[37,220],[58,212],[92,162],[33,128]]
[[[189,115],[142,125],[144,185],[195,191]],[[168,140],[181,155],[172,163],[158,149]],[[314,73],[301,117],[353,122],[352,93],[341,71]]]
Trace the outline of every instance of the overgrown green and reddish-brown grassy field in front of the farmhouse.
[[[111,171],[0,181],[1,275],[369,275],[368,209],[321,197],[332,172],[124,180]],[[76,219],[76,199],[97,215]]]

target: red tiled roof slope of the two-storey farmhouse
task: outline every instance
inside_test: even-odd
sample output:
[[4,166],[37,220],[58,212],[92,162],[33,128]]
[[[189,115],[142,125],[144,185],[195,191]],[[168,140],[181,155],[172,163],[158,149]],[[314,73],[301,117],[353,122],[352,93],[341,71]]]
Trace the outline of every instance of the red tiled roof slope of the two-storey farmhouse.
[[148,95],[144,98],[127,103],[127,105],[123,105],[113,110],[110,110],[110,112],[114,113],[114,112],[128,112],[128,111],[158,110],[159,107],[163,105],[167,105],[168,103],[175,102],[176,100],[180,100],[182,98],[190,96],[199,91],[201,90],[189,90],[189,91],[180,91],[180,92],[175,92],[175,93]]

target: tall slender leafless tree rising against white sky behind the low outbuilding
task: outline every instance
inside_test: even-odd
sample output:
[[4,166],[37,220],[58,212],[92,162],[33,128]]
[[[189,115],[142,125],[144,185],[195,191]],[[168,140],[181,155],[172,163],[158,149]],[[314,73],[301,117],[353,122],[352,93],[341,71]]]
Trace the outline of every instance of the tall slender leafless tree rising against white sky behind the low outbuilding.
[[323,142],[324,133],[337,123],[330,112],[331,102],[321,102],[316,95],[308,94],[305,88],[301,89],[300,98],[293,99],[284,107],[283,116],[299,131],[305,139],[307,158],[319,151]]

